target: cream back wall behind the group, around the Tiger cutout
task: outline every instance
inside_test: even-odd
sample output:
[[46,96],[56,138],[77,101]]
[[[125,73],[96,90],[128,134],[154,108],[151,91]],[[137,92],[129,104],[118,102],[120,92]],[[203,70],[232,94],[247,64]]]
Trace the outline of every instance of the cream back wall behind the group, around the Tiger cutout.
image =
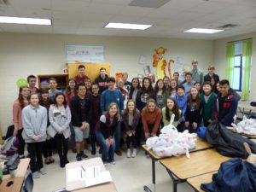
[[180,56],[190,67],[190,62],[196,58],[204,70],[213,61],[213,41],[210,40],[0,32],[0,127],[3,135],[12,124],[12,105],[18,96],[16,80],[30,74],[61,73],[66,63],[64,44],[103,45],[111,74],[126,71],[130,80],[137,73],[143,74],[143,66],[138,64],[140,55],[146,56],[147,63],[152,66],[154,49],[160,46],[168,49],[167,61]]

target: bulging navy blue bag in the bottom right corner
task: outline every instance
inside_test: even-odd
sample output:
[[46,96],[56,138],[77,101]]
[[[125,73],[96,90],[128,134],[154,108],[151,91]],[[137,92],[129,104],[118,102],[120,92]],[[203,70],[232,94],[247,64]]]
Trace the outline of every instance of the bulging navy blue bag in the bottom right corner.
[[255,192],[256,166],[240,158],[233,158],[221,164],[212,183],[202,183],[207,192]]

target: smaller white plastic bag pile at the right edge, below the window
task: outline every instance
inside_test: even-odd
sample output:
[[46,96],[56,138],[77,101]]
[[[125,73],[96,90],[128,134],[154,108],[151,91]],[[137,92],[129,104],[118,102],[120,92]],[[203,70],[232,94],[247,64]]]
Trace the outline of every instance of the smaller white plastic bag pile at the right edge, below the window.
[[246,116],[243,116],[241,122],[237,125],[232,124],[234,130],[238,133],[245,133],[247,135],[256,135],[256,119],[247,119]]

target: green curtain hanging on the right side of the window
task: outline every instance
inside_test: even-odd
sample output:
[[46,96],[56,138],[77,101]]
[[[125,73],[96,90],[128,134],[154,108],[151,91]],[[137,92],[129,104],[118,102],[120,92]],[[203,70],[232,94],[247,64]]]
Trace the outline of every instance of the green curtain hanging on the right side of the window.
[[242,42],[242,85],[241,85],[241,100],[249,99],[250,91],[250,75],[252,62],[252,44],[253,39],[248,39]]

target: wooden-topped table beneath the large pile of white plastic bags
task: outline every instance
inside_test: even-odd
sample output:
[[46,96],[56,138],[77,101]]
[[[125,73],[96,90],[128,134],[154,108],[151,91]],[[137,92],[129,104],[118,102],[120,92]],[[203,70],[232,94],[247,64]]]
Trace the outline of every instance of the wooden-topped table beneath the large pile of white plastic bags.
[[[153,150],[148,150],[147,145],[143,144],[143,150],[149,155],[152,161],[152,183],[154,184],[154,191],[155,191],[155,161],[161,160],[164,158],[169,158],[169,157],[160,157],[156,154],[154,154]],[[200,151],[200,150],[205,150],[207,148],[213,148],[213,146],[210,143],[207,143],[205,140],[201,139],[201,137],[196,137],[195,141],[195,148],[189,150],[190,153]]]

